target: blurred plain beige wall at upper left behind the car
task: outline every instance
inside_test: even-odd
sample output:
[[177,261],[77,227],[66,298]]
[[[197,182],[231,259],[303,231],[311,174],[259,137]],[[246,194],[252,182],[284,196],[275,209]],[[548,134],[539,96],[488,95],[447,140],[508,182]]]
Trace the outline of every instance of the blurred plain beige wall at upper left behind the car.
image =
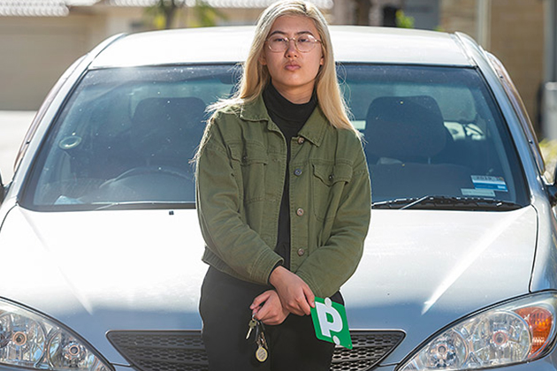
[[0,110],[36,110],[57,77],[87,52],[85,17],[0,19]]

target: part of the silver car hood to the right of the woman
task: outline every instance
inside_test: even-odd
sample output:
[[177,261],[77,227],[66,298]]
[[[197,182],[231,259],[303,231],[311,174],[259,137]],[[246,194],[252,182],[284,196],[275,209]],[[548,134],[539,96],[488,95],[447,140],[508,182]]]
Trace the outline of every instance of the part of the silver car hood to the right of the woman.
[[343,287],[352,329],[402,329],[400,361],[446,325],[529,292],[536,209],[373,210],[362,261]]

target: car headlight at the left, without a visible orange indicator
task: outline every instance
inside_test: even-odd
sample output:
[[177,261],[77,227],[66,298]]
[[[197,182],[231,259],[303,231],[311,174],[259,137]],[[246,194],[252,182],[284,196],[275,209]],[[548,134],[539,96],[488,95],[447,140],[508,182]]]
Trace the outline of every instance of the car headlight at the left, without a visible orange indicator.
[[85,341],[42,314],[0,299],[0,364],[110,371]]

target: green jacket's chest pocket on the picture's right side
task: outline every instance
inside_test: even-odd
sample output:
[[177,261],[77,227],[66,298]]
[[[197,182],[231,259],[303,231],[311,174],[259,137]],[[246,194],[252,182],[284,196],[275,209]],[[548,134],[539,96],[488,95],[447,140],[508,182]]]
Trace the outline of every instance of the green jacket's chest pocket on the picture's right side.
[[311,193],[317,219],[324,221],[336,216],[344,186],[352,179],[352,166],[347,163],[313,164]]

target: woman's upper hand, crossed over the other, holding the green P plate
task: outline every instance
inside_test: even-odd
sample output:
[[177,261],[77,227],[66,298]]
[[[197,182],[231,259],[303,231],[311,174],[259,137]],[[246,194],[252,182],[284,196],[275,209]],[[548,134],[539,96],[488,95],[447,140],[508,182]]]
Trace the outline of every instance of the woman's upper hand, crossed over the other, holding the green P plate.
[[282,306],[297,315],[311,314],[316,307],[315,295],[299,276],[284,267],[274,269],[269,283],[277,290]]

